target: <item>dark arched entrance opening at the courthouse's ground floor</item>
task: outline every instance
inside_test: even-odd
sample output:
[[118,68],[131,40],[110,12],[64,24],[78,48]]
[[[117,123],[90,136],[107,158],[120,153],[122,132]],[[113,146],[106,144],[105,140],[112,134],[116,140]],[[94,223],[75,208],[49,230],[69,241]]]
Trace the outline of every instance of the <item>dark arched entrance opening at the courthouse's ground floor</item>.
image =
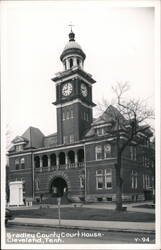
[[51,183],[50,193],[53,197],[62,197],[67,194],[67,183],[62,177],[56,177]]

